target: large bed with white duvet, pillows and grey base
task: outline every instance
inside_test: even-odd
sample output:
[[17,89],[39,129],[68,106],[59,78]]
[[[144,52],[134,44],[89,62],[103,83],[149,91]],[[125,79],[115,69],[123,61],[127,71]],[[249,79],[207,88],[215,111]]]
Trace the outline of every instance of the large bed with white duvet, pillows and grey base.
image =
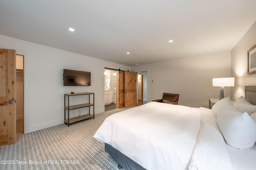
[[94,138],[125,170],[255,169],[256,86],[245,94],[212,109],[150,102],[109,116]]

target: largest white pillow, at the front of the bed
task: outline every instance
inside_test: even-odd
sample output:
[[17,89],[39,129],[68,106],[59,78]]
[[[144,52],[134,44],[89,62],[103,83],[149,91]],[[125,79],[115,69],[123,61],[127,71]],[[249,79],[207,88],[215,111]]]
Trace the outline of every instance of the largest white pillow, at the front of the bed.
[[220,113],[217,123],[226,142],[234,148],[249,150],[256,142],[256,123],[248,113]]

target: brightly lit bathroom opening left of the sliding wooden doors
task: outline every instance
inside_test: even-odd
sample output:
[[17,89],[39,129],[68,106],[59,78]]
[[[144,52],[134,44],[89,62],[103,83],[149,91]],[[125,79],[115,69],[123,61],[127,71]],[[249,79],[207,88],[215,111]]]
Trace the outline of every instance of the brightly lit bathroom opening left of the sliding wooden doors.
[[117,108],[117,90],[118,90],[118,71],[104,70],[104,101],[105,111]]

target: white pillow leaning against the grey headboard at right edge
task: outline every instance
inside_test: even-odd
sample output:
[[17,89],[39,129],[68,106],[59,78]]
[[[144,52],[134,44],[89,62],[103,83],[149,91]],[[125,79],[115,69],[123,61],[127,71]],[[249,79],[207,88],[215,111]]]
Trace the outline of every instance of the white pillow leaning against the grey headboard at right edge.
[[252,105],[243,96],[236,99],[236,101],[233,103],[233,106],[240,110],[242,113],[246,112],[249,115],[256,112],[256,105]]

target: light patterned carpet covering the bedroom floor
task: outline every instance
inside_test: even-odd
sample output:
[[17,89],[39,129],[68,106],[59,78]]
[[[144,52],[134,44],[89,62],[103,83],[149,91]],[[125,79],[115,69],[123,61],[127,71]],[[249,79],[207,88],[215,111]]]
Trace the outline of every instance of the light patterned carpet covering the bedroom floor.
[[119,170],[93,138],[106,117],[128,108],[114,109],[87,119],[17,135],[16,144],[0,146],[0,169],[4,170]]

